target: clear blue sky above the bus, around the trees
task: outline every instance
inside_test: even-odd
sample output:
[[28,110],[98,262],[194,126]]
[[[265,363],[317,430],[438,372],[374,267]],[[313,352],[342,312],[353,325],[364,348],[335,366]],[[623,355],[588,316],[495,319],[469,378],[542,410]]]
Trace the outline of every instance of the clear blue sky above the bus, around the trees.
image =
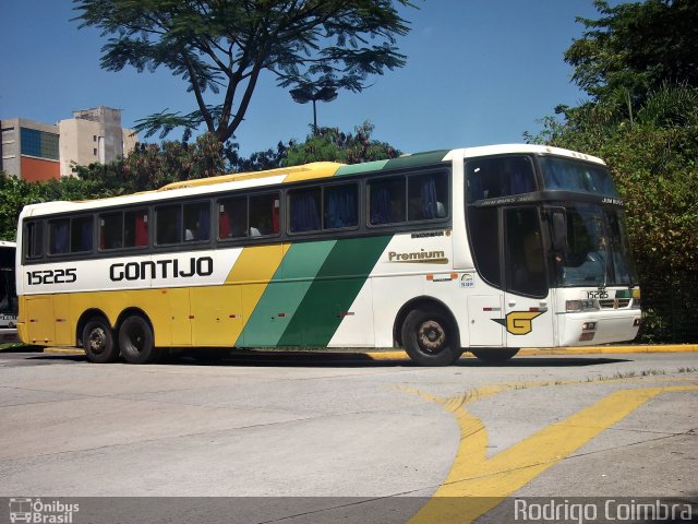
[[[537,120],[557,104],[583,99],[563,53],[582,32],[575,17],[598,17],[592,0],[413,1],[420,9],[404,11],[412,31],[398,41],[407,67],[374,76],[361,94],[340,92],[320,104],[320,126],[351,131],[369,120],[375,139],[406,153],[522,142],[524,131],[538,131]],[[0,1],[0,118],[55,123],[105,105],[122,109],[122,123],[131,127],[166,108],[195,108],[166,70],[103,71],[106,39],[77,29],[74,15],[69,0]],[[236,141],[249,154],[304,139],[311,122],[312,106],[296,104],[266,75]]]

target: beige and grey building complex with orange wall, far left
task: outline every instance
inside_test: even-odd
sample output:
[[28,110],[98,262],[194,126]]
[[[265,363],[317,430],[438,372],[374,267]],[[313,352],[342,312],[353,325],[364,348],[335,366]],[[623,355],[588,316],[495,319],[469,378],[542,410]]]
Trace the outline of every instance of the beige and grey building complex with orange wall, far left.
[[57,126],[23,118],[0,121],[0,168],[28,181],[72,175],[72,165],[109,163],[133,151],[139,135],[121,128],[121,110],[99,106],[73,111]]

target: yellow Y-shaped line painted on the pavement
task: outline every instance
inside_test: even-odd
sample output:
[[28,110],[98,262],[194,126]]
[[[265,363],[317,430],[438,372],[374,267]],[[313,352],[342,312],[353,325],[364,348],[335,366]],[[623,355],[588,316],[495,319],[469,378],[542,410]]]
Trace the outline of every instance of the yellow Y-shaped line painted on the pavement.
[[448,476],[411,524],[472,522],[660,393],[698,391],[698,385],[616,391],[488,458],[484,424],[464,406],[510,388],[488,386],[454,398],[417,392],[453,413],[460,429],[460,446]]

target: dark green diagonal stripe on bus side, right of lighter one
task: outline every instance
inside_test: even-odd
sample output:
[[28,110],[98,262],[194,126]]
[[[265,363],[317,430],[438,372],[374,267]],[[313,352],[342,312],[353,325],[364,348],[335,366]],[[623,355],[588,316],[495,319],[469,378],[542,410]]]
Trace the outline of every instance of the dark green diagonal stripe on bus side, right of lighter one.
[[279,346],[326,346],[392,236],[338,240],[291,319]]

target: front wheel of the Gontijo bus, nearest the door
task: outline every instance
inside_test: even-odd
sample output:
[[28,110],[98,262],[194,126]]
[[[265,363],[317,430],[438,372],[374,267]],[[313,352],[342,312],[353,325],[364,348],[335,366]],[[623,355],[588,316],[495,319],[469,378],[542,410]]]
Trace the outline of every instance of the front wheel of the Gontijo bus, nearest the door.
[[402,323],[402,346],[418,366],[450,366],[462,355],[450,320],[436,309],[414,309]]

